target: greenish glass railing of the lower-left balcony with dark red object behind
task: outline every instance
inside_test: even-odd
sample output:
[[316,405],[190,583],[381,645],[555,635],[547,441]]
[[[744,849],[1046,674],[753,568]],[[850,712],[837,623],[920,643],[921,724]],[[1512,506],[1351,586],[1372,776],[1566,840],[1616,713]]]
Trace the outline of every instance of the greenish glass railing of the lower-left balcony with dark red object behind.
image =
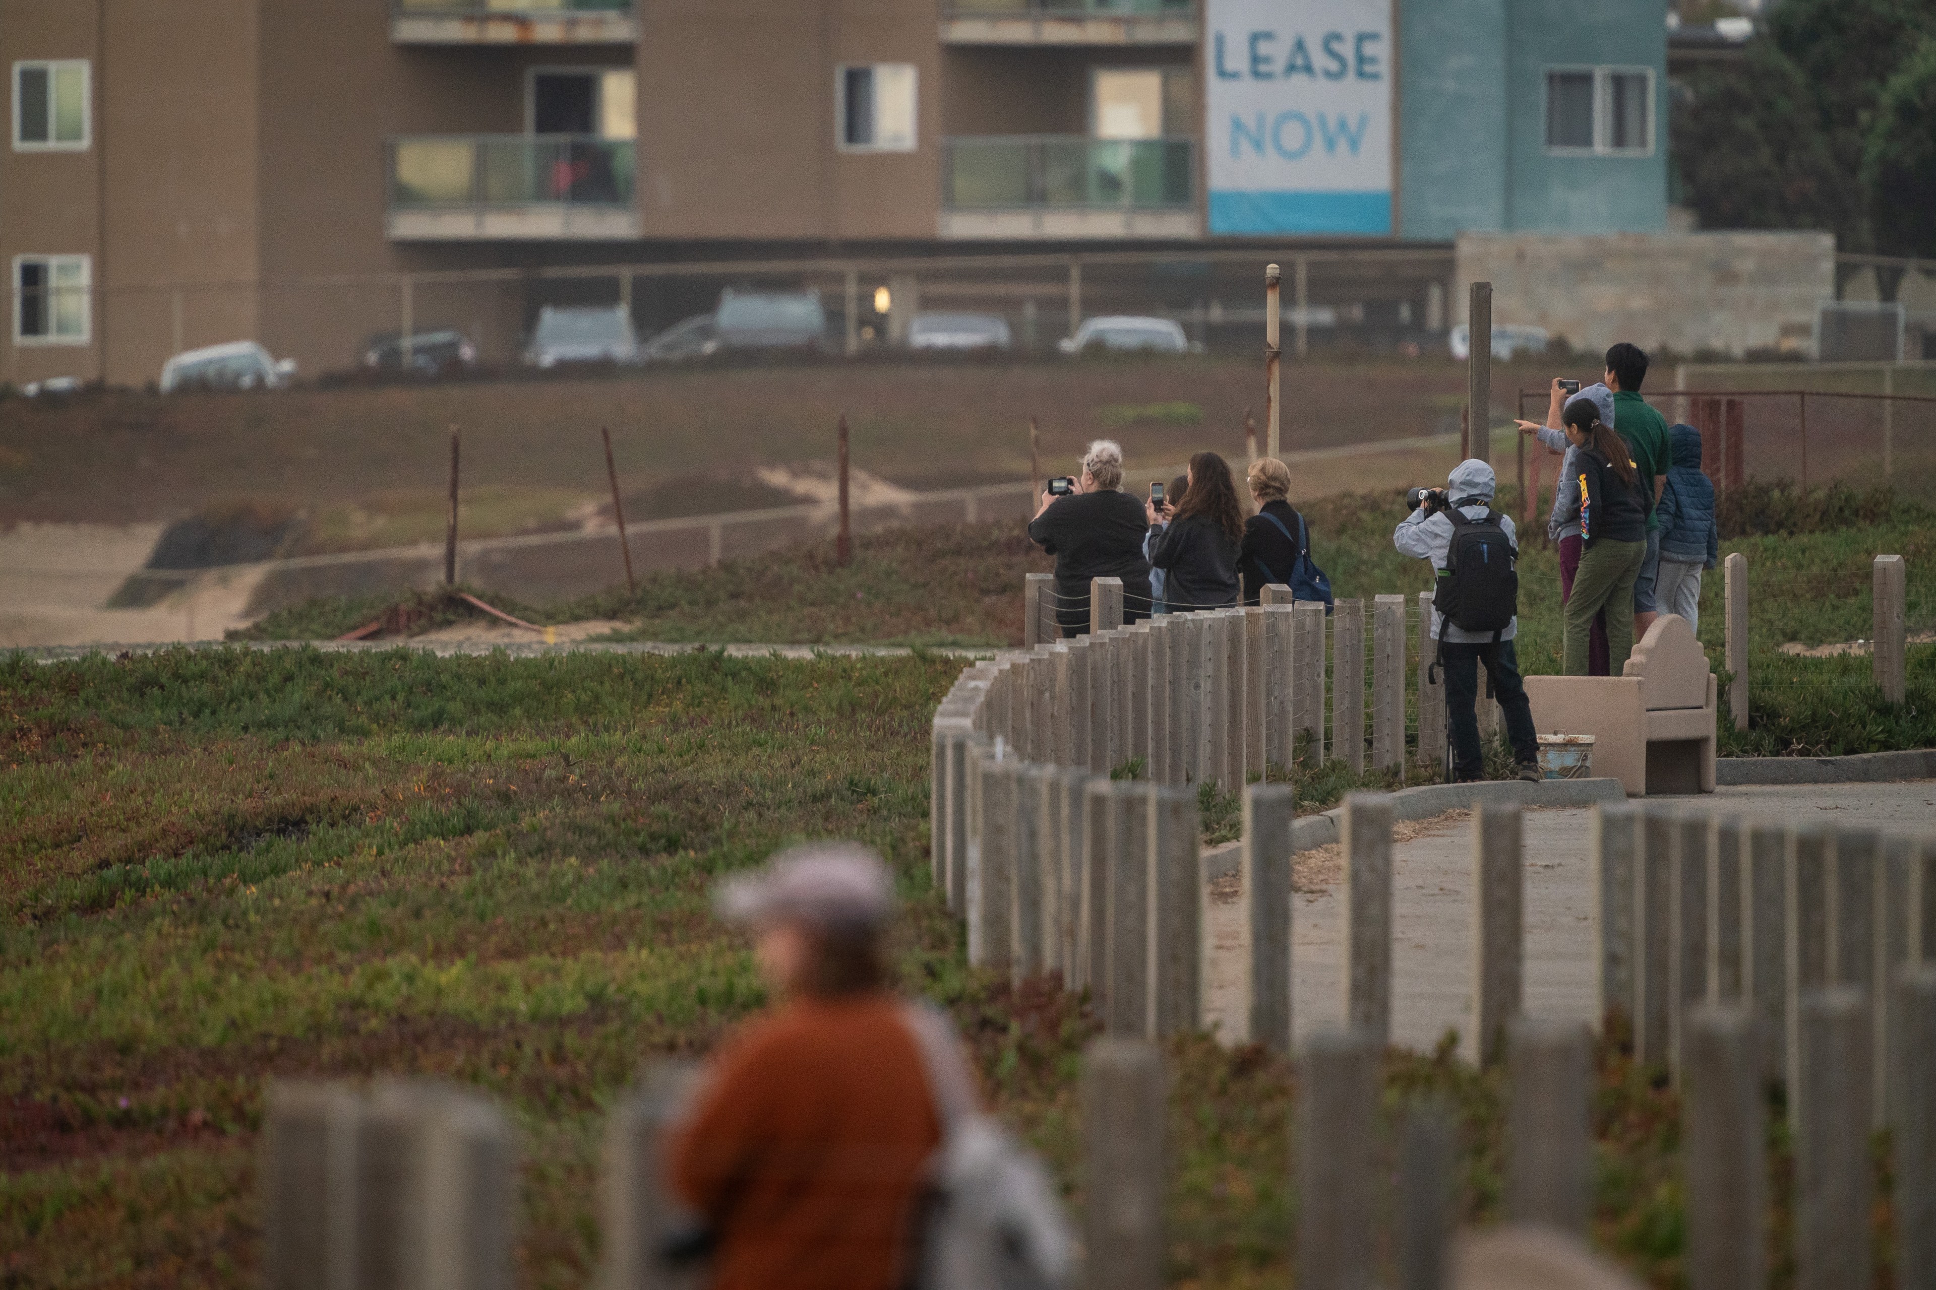
[[629,207],[631,139],[410,135],[389,143],[391,211]]

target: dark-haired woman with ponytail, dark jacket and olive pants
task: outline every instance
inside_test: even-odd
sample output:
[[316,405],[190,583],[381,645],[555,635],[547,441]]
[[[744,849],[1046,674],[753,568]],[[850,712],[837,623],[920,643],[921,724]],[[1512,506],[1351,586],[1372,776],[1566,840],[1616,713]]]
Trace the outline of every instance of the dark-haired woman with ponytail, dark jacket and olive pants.
[[1574,398],[1562,418],[1580,484],[1580,571],[1566,598],[1566,675],[1588,675],[1593,615],[1607,611],[1607,661],[1620,675],[1634,652],[1634,580],[1648,559],[1648,503],[1626,443],[1599,420],[1589,398]]

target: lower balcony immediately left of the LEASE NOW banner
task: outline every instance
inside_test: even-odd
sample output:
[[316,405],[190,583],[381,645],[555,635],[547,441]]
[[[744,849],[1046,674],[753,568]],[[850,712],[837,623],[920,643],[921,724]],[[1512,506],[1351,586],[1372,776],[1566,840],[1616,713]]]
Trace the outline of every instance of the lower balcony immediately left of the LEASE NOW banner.
[[1195,238],[1195,139],[941,141],[943,238]]

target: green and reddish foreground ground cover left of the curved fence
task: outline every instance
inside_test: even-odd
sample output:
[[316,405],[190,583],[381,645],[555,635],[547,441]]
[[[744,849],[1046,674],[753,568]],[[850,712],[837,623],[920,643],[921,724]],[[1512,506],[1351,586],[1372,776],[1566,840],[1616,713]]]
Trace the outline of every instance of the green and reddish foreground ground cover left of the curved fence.
[[[1051,982],[968,971],[927,884],[925,723],[956,669],[714,652],[0,661],[0,1276],[254,1284],[263,1081],[395,1071],[509,1108],[521,1282],[587,1286],[604,1106],[641,1062],[703,1052],[765,1002],[711,884],[815,836],[889,857],[902,981],[953,1008],[993,1106],[1078,1205],[1096,1021]],[[1386,1058],[1380,1153],[1413,1099],[1450,1104],[1460,1211],[1491,1220],[1504,1087],[1454,1048]],[[1282,1284],[1291,1070],[1204,1037],[1169,1062],[1171,1280]],[[1677,1100],[1618,1044],[1599,1062],[1595,1238],[1665,1290],[1682,1257]]]

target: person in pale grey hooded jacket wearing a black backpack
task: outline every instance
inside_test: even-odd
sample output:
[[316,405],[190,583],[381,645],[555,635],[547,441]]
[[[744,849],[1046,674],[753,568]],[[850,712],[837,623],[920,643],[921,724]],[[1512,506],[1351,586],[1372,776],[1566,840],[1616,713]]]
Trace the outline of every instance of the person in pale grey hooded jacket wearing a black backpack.
[[[1462,460],[1446,478],[1444,495],[1438,501],[1421,505],[1400,520],[1392,530],[1392,545],[1404,555],[1415,555],[1433,563],[1435,576],[1446,572],[1452,555],[1452,534],[1456,532],[1446,507],[1458,507],[1467,520],[1485,520],[1493,513],[1493,493],[1498,487],[1493,468],[1479,458]],[[1440,505],[1442,503],[1442,505]],[[1500,514],[1498,528],[1518,555],[1520,543],[1512,530],[1512,518]],[[1516,609],[1516,607],[1514,607]],[[1444,671],[1446,687],[1446,727],[1452,743],[1452,777],[1483,779],[1485,748],[1479,745],[1479,665],[1493,683],[1493,698],[1506,714],[1506,739],[1512,743],[1512,760],[1518,764],[1520,779],[1539,779],[1539,733],[1533,729],[1533,708],[1526,700],[1526,685],[1520,681],[1520,660],[1514,654],[1512,638],[1520,634],[1520,617],[1497,632],[1469,632],[1458,623],[1448,623],[1433,605],[1433,640],[1438,642],[1438,667]]]

